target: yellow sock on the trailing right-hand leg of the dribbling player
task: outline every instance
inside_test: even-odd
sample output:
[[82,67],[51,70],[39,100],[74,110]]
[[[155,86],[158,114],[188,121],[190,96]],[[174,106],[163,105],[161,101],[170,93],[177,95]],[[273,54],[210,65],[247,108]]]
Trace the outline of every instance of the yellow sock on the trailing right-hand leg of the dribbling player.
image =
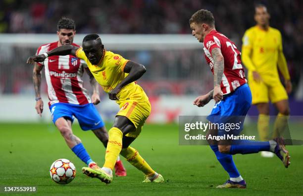
[[152,170],[151,166],[140,156],[135,148],[128,146],[127,148],[123,148],[120,154],[145,175],[152,176],[155,174],[155,171]]

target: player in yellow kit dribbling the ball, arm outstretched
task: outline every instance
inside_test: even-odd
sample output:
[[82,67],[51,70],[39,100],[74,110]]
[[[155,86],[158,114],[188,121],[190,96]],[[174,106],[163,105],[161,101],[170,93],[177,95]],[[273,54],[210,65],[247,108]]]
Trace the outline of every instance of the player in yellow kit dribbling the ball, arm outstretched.
[[120,106],[113,127],[108,131],[108,143],[105,163],[102,168],[84,167],[83,173],[99,178],[108,184],[112,182],[112,170],[119,153],[133,166],[141,170],[146,178],[143,182],[164,182],[161,174],[152,170],[139,152],[129,146],[140,134],[142,127],[151,113],[151,104],[144,90],[136,84],[146,71],[143,65],[129,61],[104,49],[97,34],[89,34],[83,39],[83,48],[65,45],[42,55],[29,57],[27,63],[41,62],[50,56],[73,55],[83,59],[95,79],[99,82],[109,99]]

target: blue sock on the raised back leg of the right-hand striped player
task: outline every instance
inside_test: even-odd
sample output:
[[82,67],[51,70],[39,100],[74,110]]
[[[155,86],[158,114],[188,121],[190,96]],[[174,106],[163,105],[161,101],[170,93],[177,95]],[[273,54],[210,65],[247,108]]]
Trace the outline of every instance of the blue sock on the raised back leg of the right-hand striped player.
[[260,151],[269,151],[269,141],[238,140],[236,145],[231,145],[230,154],[252,154]]

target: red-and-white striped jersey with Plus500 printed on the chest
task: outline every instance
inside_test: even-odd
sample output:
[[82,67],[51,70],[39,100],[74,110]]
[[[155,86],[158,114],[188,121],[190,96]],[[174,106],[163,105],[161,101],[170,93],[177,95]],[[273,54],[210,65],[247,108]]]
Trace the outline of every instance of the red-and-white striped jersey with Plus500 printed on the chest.
[[[78,46],[77,44],[72,44]],[[58,42],[42,45],[37,53],[41,55],[58,46]],[[45,66],[45,77],[48,85],[49,106],[54,103],[84,105],[91,103],[87,90],[81,79],[86,63],[74,56],[51,56],[38,65]]]

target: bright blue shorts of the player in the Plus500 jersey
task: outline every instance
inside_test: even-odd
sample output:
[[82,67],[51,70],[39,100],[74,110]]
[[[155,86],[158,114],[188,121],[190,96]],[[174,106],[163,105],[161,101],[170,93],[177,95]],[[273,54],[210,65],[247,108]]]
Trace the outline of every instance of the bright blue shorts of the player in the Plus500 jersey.
[[104,127],[101,116],[92,103],[85,105],[55,103],[50,106],[50,112],[54,124],[56,120],[61,117],[68,118],[73,123],[75,117],[83,131],[96,130]]

